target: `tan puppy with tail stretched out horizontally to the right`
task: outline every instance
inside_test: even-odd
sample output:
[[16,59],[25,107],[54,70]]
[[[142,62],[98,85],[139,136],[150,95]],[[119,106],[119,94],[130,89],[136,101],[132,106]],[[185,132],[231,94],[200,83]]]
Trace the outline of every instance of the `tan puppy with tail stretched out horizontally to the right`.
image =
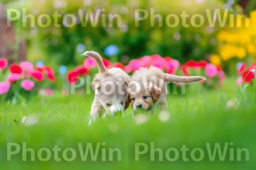
[[167,82],[192,83],[205,79],[200,76],[176,76],[164,73],[160,68],[140,68],[131,76],[129,97],[134,115],[137,108],[150,111],[156,102],[160,111],[166,111]]

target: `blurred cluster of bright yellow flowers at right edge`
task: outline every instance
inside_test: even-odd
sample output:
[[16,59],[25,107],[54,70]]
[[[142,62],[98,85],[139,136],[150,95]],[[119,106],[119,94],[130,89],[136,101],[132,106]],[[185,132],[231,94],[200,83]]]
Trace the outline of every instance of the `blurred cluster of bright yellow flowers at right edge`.
[[218,34],[218,50],[210,58],[213,64],[221,65],[225,71],[235,70],[241,62],[246,65],[256,63],[256,11],[237,24],[233,28],[224,28]]

